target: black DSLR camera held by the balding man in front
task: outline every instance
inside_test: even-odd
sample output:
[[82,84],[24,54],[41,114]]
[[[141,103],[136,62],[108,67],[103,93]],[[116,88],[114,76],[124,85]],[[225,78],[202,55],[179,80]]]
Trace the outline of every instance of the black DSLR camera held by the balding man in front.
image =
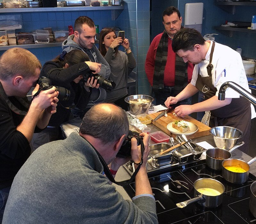
[[[119,151],[116,155],[117,157],[125,158],[126,156],[131,156],[131,148],[132,148],[131,140],[132,140],[132,138],[135,138],[137,140],[137,146],[140,145],[141,147],[144,147],[143,138],[139,135],[139,133],[129,131],[128,136],[125,138],[121,148],[119,149]],[[144,148],[143,148],[142,152],[144,152]]]

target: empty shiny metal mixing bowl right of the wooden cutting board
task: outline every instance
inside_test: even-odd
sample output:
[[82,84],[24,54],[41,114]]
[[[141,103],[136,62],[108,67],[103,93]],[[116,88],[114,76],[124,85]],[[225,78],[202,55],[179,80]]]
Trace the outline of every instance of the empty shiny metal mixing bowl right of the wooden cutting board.
[[243,136],[243,132],[237,128],[229,126],[216,126],[210,129],[213,140],[217,148],[230,149],[238,139]]

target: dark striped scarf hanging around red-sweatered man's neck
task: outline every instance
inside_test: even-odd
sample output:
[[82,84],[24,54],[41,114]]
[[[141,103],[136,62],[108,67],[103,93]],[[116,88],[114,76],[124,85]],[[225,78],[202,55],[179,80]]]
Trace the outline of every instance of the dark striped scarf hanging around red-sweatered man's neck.
[[[156,50],[153,89],[164,89],[164,69],[168,54],[168,35],[166,30],[159,41]],[[188,84],[188,63],[176,54],[174,92],[178,94]]]

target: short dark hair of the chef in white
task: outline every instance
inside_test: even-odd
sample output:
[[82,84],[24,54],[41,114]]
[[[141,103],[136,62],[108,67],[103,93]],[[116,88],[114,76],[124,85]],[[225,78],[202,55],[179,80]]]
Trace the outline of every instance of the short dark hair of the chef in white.
[[195,44],[204,45],[204,42],[204,37],[196,29],[182,28],[173,36],[172,50],[193,50]]

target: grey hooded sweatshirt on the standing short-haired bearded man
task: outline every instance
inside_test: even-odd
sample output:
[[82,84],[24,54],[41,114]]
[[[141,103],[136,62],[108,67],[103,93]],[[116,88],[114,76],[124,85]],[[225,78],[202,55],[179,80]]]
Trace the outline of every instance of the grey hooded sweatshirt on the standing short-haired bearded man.
[[[110,75],[110,66],[108,62],[104,59],[104,57],[100,54],[100,51],[98,48],[93,45],[92,49],[86,49],[81,47],[79,44],[76,44],[75,41],[73,41],[74,34],[68,36],[68,39],[66,39],[62,43],[62,50],[66,52],[70,52],[72,50],[81,50],[84,53],[86,53],[90,57],[90,61],[97,62],[101,64],[100,72],[98,73],[102,77],[105,77],[108,79]],[[90,97],[90,101],[87,104],[88,108],[91,108],[96,103],[103,103],[106,99],[107,93],[106,90],[103,88],[92,88],[92,94]]]

